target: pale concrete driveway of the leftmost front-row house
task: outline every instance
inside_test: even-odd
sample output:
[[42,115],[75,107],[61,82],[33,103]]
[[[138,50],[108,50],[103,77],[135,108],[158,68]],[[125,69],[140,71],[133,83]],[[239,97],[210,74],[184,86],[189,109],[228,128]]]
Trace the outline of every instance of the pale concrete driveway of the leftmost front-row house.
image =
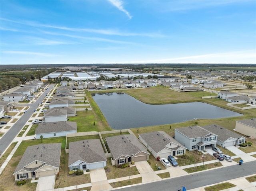
[[40,177],[37,182],[36,191],[53,190],[55,184],[55,175]]

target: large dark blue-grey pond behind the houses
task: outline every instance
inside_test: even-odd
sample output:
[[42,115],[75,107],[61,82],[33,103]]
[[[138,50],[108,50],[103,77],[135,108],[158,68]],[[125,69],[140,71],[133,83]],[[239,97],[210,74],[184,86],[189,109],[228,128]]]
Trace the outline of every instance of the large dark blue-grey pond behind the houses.
[[242,116],[202,102],[150,105],[125,93],[92,95],[112,129],[127,129],[173,124],[198,119]]

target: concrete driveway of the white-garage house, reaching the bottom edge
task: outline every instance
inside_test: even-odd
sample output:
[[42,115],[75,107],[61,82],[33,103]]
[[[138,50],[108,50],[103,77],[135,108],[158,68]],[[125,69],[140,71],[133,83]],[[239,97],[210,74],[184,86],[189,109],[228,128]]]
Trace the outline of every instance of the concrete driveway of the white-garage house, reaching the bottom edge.
[[90,177],[92,182],[91,191],[112,189],[112,186],[108,183],[104,168],[90,170]]

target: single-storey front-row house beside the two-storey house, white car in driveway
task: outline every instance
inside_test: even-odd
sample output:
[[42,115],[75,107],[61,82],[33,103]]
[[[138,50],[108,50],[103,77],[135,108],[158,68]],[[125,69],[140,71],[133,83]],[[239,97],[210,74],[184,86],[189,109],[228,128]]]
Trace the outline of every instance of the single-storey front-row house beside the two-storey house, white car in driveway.
[[186,148],[180,146],[180,143],[170,137],[164,131],[154,131],[150,133],[139,134],[139,140],[152,155],[160,158],[168,156],[178,156],[186,154]]

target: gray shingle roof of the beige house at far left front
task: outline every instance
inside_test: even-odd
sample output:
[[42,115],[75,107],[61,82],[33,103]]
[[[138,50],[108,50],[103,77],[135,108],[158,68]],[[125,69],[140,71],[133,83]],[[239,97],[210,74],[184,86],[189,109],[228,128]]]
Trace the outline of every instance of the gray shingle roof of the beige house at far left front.
[[33,161],[42,161],[46,165],[59,167],[60,153],[61,153],[61,143],[39,144],[34,146],[28,146],[22,158],[20,159],[20,162],[16,167],[14,173],[17,173],[22,169],[27,171],[34,171],[38,169],[39,167],[36,169],[25,168],[28,164],[32,163]]

